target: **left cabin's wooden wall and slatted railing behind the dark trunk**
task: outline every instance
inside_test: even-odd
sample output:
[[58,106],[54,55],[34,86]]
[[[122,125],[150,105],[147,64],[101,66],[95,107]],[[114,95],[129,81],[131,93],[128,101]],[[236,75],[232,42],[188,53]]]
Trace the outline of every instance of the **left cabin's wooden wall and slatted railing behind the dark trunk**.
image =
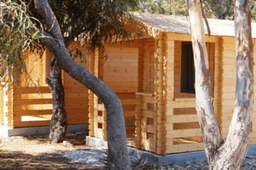
[[[86,56],[86,59],[89,60],[89,54],[76,42],[69,46],[70,52],[75,53],[75,50],[73,50],[75,48],[78,48],[82,55]],[[76,60],[79,62],[78,59]],[[52,96],[48,85],[45,83],[46,76],[49,76],[50,61],[51,53],[48,50],[41,57],[33,54],[27,55],[26,67],[30,72],[31,80],[28,81],[27,77],[22,76],[20,86],[13,88],[12,127],[50,125]],[[88,68],[89,63],[83,63],[83,66]],[[88,123],[88,89],[64,72],[62,72],[62,78],[65,91],[67,123],[69,125]]]

